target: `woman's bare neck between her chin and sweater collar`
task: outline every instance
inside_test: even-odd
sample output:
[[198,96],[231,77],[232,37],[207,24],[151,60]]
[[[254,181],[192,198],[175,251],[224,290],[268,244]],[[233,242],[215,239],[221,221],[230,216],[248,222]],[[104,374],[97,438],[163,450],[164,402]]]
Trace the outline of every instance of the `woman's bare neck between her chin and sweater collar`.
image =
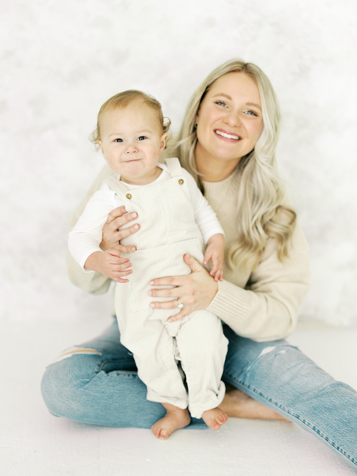
[[195,159],[199,176],[204,182],[220,182],[229,177],[240,160],[240,158],[218,159],[202,149],[199,142],[195,149]]

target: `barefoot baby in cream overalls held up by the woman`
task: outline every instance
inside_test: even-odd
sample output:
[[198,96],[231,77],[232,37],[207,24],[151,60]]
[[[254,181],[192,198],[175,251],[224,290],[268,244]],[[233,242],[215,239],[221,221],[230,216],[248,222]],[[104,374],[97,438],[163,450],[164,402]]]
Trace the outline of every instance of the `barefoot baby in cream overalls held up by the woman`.
[[[133,353],[147,399],[167,411],[151,427],[160,439],[189,424],[188,410],[213,429],[227,421],[218,408],[225,394],[221,376],[228,343],[220,319],[199,309],[170,322],[183,307],[179,300],[176,312],[150,307],[152,279],[191,272],[185,253],[200,263],[211,260],[216,280],[223,270],[224,238],[216,214],[178,159],[158,163],[168,128],[160,103],[141,91],[121,92],[102,105],[93,138],[115,175],[104,180],[69,234],[69,251],[84,271],[117,281],[120,341]],[[135,234],[120,240],[136,247],[132,262],[125,253],[99,248],[109,212],[123,205],[138,213],[140,223]],[[130,280],[124,278],[131,273]],[[172,298],[161,298],[166,300]]]

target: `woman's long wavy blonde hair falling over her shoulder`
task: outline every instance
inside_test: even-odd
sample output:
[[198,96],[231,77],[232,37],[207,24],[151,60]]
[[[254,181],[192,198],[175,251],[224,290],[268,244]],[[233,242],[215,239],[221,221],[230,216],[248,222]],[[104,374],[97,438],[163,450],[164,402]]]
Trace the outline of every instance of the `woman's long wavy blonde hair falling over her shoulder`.
[[260,93],[263,127],[253,150],[238,163],[240,186],[237,196],[239,210],[237,240],[228,250],[231,269],[256,268],[268,238],[278,240],[278,259],[288,258],[289,245],[296,224],[296,213],[283,205],[284,191],[278,176],[275,149],[278,142],[280,111],[271,83],[253,63],[229,60],[218,66],[198,86],[188,102],[185,118],[178,134],[175,154],[182,166],[196,178],[203,190],[196,168],[196,116],[211,85],[224,74],[240,72],[249,76]]

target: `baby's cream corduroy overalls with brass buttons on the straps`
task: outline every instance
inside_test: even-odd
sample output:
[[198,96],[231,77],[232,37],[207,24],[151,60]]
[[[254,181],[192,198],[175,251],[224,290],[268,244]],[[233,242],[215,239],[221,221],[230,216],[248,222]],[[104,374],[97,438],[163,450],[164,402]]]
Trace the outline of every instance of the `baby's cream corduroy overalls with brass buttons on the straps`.
[[[130,258],[133,274],[129,283],[116,284],[115,309],[120,341],[133,353],[139,378],[148,387],[147,399],[188,407],[192,417],[200,418],[223,400],[225,386],[220,379],[228,340],[220,319],[206,309],[170,323],[167,319],[179,309],[149,307],[151,279],[189,274],[185,253],[203,261],[204,243],[194,219],[185,171],[176,158],[166,163],[169,180],[132,190],[114,177],[103,182],[122,199],[128,213],[138,213],[137,220],[127,226],[140,223],[138,232],[120,241],[136,246],[137,251],[123,254]],[[177,360],[186,375],[188,394]]]

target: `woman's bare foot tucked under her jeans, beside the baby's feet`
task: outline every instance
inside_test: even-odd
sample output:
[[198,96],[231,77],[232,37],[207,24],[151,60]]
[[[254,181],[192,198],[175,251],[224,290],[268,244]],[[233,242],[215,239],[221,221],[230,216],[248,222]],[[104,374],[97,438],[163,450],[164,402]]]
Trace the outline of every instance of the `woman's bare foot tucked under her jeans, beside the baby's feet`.
[[228,417],[290,421],[228,384],[226,384],[226,395],[219,407],[227,413]]

